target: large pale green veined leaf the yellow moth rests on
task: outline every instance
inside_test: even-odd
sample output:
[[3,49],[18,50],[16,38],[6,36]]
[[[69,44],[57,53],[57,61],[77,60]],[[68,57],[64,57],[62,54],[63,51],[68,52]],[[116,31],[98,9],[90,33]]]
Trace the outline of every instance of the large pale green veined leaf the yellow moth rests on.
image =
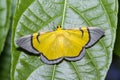
[[[112,60],[117,28],[117,0],[19,0],[12,33],[11,80],[104,80]],[[96,26],[105,36],[76,62],[46,65],[18,50],[16,40],[38,31]],[[54,26],[53,26],[54,25]]]

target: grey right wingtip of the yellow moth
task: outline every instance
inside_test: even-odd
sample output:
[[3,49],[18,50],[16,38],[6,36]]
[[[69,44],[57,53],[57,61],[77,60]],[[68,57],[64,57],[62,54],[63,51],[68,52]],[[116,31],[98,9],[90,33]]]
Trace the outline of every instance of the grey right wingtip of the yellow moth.
[[88,44],[85,46],[86,48],[91,47],[94,45],[100,38],[104,36],[104,30],[98,28],[98,27],[88,27],[89,34],[90,34],[90,40]]

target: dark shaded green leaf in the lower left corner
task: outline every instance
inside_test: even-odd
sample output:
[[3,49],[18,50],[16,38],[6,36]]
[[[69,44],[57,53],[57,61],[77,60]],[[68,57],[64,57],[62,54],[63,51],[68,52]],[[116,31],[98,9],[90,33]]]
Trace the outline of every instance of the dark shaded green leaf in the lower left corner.
[[11,31],[8,32],[5,48],[0,55],[0,80],[10,80]]

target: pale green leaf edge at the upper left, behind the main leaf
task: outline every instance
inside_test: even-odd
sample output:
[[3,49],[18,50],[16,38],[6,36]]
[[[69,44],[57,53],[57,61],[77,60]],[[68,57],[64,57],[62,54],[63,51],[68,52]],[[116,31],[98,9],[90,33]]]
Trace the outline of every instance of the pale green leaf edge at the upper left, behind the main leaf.
[[10,1],[0,0],[0,53],[3,50],[10,22]]

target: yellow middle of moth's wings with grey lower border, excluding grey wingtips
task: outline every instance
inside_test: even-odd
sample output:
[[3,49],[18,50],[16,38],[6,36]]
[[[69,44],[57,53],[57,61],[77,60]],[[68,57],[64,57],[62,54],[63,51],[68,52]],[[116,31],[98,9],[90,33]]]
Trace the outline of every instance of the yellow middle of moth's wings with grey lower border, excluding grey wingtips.
[[89,41],[87,28],[63,30],[61,33],[49,32],[37,35],[33,34],[33,47],[41,51],[41,60],[47,64],[55,64],[63,59],[69,61],[80,60],[85,54],[85,45]]

